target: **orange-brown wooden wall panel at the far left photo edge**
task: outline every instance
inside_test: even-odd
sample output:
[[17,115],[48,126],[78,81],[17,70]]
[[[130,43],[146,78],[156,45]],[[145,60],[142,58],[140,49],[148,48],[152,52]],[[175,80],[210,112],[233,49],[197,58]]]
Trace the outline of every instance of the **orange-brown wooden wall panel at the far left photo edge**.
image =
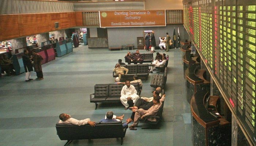
[[20,37],[17,15],[0,15],[0,20],[3,40]]

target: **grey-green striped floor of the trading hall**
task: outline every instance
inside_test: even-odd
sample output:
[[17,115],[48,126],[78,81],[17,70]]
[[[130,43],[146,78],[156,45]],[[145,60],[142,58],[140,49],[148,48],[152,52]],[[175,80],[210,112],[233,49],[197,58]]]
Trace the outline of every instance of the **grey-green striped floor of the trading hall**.
[[[135,51],[135,50],[133,50]],[[157,50],[164,53],[161,50]],[[146,51],[140,50],[141,53]],[[42,65],[44,80],[25,82],[25,73],[0,78],[0,145],[3,146],[63,146],[56,135],[55,124],[60,113],[67,112],[77,119],[102,119],[106,111],[129,118],[131,111],[121,103],[90,103],[89,95],[95,84],[113,83],[112,70],[127,50],[88,49],[80,45],[74,52]],[[169,55],[166,100],[160,129],[127,130],[124,146],[191,146],[191,124],[184,124],[183,113],[190,112],[185,97],[185,79],[181,52],[173,49]],[[154,53],[155,56],[155,53]],[[156,73],[153,73],[156,74]],[[151,97],[151,77],[143,80],[141,96]],[[35,73],[32,74],[36,78]],[[92,139],[73,141],[70,146],[119,146],[120,139]]]

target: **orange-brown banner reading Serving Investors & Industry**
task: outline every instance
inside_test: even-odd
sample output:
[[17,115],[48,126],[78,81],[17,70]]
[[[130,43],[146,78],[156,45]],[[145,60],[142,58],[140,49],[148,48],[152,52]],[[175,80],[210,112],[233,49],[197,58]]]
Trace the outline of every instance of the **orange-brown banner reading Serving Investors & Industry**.
[[166,26],[165,10],[99,11],[100,27]]

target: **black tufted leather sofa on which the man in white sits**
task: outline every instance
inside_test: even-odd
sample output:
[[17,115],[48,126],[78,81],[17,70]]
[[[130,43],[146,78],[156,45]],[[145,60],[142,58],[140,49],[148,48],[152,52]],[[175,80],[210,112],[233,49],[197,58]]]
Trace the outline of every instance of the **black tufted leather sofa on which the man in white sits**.
[[[135,87],[137,94],[140,95],[139,83],[131,84]],[[90,94],[90,103],[95,103],[95,110],[97,103],[117,102],[120,101],[121,90],[124,84],[96,84],[94,85],[94,93]]]

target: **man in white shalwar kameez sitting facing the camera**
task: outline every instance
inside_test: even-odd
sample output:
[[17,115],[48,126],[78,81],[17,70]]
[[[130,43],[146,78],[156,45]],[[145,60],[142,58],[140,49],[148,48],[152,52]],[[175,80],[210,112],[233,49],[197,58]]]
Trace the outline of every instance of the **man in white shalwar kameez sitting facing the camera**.
[[125,107],[124,110],[127,110],[129,107],[129,104],[127,103],[128,100],[132,100],[133,103],[135,104],[139,98],[140,97],[139,95],[137,95],[135,87],[131,85],[129,80],[125,81],[125,85],[122,88],[120,97],[120,100]]

